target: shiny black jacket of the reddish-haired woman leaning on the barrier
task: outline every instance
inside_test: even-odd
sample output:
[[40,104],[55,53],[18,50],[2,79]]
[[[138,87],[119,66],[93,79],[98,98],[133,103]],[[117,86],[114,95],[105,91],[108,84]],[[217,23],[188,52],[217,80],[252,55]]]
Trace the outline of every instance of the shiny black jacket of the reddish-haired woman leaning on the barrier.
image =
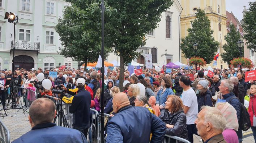
[[166,128],[166,134],[188,139],[187,118],[183,110],[174,114],[167,109],[159,116],[165,124],[174,125],[173,128]]

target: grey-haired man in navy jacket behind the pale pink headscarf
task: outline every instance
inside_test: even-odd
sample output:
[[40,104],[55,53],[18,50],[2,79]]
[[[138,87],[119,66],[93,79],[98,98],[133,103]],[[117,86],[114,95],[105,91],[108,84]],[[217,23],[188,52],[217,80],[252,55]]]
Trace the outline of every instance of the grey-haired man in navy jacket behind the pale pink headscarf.
[[[234,88],[234,83],[230,79],[225,79],[221,82],[219,86],[219,91],[222,93],[223,100],[226,100],[226,102],[230,103],[231,106],[233,106],[236,110],[236,116],[238,119],[238,123],[240,120],[240,101],[238,98],[236,98],[235,94],[232,92]],[[242,130],[240,129],[240,124],[238,131],[236,131],[236,134],[238,136],[239,143],[242,142],[243,135]]]

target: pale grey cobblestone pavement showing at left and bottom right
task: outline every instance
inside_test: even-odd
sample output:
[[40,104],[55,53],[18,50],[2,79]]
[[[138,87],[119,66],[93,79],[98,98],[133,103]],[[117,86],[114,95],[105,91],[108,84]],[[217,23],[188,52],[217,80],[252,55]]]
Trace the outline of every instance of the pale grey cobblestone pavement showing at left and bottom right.
[[[7,110],[7,112],[9,115],[4,118],[0,117],[0,120],[2,120],[9,129],[10,140],[12,142],[26,132],[29,132],[31,130],[31,126],[27,117],[29,114],[25,112],[25,116],[22,109],[16,109],[16,114],[14,114],[14,110],[11,109]],[[0,113],[4,114],[4,111],[0,111]],[[194,143],[200,143],[199,139],[199,136],[194,135]],[[251,129],[243,132],[243,143],[254,143]]]

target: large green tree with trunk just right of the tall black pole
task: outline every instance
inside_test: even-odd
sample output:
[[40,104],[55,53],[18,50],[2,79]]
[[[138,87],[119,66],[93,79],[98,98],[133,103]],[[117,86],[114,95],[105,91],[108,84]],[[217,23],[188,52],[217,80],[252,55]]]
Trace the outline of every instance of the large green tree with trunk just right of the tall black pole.
[[[81,9],[88,9],[90,3],[93,3],[91,0],[66,1]],[[98,1],[98,5],[99,3]],[[172,3],[171,0],[105,0],[105,12],[111,11],[105,13],[105,46],[113,47],[115,54],[120,56],[121,91],[123,91],[124,64],[130,63],[140,55],[136,50],[145,45],[145,34],[158,27],[161,14]]]

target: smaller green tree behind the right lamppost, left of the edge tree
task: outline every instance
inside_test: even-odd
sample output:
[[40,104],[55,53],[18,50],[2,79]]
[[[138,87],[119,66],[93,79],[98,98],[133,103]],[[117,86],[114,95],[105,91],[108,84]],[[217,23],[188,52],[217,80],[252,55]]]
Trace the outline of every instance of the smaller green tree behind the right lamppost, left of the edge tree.
[[[234,58],[239,57],[240,55],[239,48],[236,45],[237,41],[240,39],[240,33],[237,31],[234,24],[231,23],[229,27],[230,32],[226,36],[224,36],[224,39],[227,43],[222,46],[223,50],[225,50],[226,52],[221,53],[221,57],[225,63],[227,62],[230,65],[230,61]],[[244,55],[243,48],[241,48],[241,50],[241,55]]]

